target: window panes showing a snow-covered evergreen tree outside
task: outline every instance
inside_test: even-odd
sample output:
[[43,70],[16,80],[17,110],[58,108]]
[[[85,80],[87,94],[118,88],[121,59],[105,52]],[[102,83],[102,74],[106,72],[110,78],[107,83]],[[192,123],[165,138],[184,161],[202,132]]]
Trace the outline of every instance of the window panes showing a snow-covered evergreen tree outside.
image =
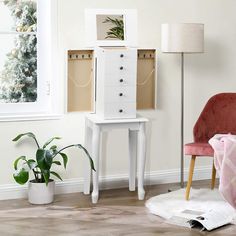
[[0,103],[36,102],[36,1],[0,0],[0,44]]

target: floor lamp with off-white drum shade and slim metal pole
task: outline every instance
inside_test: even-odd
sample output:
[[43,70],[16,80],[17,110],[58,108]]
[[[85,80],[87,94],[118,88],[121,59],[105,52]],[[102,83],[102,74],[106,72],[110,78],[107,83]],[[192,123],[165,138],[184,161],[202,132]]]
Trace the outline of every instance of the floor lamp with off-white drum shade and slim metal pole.
[[181,54],[181,153],[180,184],[184,187],[184,54],[204,51],[204,25],[162,24],[162,52]]

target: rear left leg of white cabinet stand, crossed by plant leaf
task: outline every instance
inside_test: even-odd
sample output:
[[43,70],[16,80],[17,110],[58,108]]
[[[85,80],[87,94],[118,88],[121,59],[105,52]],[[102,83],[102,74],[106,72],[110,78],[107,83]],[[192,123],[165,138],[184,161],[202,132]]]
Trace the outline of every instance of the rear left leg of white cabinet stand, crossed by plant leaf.
[[[91,141],[92,141],[92,130],[88,126],[87,119],[85,120],[85,148],[88,150],[91,155]],[[84,194],[90,193],[91,185],[91,167],[89,159],[85,156],[84,160]]]

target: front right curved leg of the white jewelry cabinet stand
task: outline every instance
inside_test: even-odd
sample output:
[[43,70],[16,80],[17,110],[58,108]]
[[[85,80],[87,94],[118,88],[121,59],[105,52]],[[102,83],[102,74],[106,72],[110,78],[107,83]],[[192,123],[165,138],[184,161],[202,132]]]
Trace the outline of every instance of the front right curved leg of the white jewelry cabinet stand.
[[145,124],[140,123],[140,128],[138,131],[138,199],[139,200],[143,200],[145,196],[145,190],[143,188],[145,161],[146,161]]

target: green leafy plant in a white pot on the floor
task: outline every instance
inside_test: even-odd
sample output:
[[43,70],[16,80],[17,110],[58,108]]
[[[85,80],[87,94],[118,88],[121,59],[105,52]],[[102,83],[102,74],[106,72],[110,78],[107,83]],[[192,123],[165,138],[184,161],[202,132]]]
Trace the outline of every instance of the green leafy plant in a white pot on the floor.
[[[17,142],[25,136],[32,138],[36,144],[35,158],[29,159],[26,156],[18,157],[14,161],[15,172],[13,177],[18,184],[23,185],[28,182],[30,172],[33,173],[34,179],[29,181],[28,186],[28,200],[32,204],[48,204],[53,201],[55,182],[51,176],[53,175],[60,180],[62,178],[57,172],[51,169],[54,165],[62,165],[62,162],[64,168],[66,168],[68,157],[63,150],[71,147],[82,149],[89,158],[91,168],[95,170],[92,158],[81,144],[68,145],[58,150],[56,145],[52,145],[52,142],[60,139],[60,137],[53,137],[45,142],[43,146],[40,146],[36,136],[31,132],[19,134],[12,141]],[[58,155],[62,158],[62,162],[55,159]]]

